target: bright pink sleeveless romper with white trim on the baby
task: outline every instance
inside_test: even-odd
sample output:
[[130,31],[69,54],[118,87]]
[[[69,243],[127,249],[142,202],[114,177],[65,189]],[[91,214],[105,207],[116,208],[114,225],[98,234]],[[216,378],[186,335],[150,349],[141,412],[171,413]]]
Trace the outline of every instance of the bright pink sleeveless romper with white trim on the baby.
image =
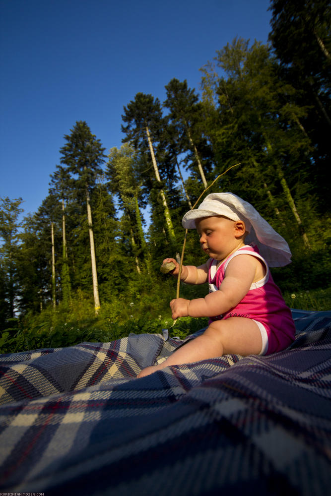
[[[248,293],[238,305],[223,313],[212,317],[210,321],[229,317],[246,317],[256,321],[259,328],[265,329],[267,335],[267,348],[265,355],[284,350],[295,336],[295,326],[291,310],[286,306],[278,286],[273,282],[269,267],[265,259],[260,255],[257,247],[244,246],[228,256],[217,268],[218,260],[210,259],[207,263],[209,293],[217,291],[224,279],[226,267],[233,257],[240,254],[249,254],[259,258],[265,265],[266,274],[263,279],[252,284]],[[262,324],[262,326],[261,326]],[[261,332],[263,337],[263,332]]]

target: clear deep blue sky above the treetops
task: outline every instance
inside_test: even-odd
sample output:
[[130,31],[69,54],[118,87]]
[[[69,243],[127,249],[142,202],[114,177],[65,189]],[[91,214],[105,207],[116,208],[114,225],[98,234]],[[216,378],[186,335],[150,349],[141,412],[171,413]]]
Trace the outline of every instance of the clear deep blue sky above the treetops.
[[106,153],[123,106],[165,99],[238,36],[267,42],[269,0],[0,0],[0,197],[23,215],[48,194],[64,134],[86,121]]

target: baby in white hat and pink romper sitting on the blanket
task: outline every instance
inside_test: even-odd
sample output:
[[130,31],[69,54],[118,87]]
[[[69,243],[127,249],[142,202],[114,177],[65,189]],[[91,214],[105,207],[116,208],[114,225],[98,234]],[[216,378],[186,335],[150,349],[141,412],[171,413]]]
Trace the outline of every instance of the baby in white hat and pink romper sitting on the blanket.
[[[165,362],[143,369],[138,377],[170,365],[226,354],[268,355],[288,347],[295,335],[291,310],[269,272],[269,266],[290,263],[286,241],[250,203],[232,193],[209,194],[198,209],[184,215],[182,224],[197,229],[209,259],[198,267],[184,265],[181,281],[208,282],[209,294],[172,300],[172,318],[209,317],[209,325]],[[163,261],[176,265],[172,274],[178,277],[178,262]]]

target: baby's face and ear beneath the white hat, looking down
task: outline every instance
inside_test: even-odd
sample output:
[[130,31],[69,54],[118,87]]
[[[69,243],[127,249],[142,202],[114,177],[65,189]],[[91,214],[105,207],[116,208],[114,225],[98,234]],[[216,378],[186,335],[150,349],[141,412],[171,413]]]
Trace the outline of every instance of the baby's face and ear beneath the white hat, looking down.
[[226,258],[238,246],[236,224],[220,215],[196,220],[202,250],[216,260]]

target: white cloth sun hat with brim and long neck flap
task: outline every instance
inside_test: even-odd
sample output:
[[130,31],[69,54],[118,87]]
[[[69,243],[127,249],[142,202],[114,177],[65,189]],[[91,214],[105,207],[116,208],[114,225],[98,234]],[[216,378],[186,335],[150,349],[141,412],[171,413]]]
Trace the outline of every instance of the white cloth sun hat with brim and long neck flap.
[[197,219],[224,215],[228,219],[245,222],[246,244],[256,245],[269,267],[282,267],[291,261],[291,251],[284,240],[259,212],[247,201],[233,193],[211,193],[199,207],[187,212],[182,220],[185,229],[195,229]]

